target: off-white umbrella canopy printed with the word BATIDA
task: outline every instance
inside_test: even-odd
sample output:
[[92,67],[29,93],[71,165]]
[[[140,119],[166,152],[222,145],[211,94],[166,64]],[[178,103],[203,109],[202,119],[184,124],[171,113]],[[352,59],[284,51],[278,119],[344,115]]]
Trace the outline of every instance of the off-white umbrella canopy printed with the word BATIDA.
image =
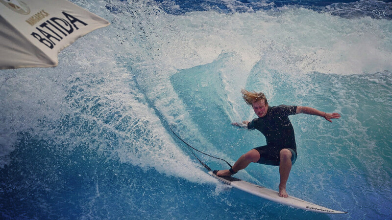
[[0,69],[57,66],[57,54],[109,22],[68,0],[0,0]]

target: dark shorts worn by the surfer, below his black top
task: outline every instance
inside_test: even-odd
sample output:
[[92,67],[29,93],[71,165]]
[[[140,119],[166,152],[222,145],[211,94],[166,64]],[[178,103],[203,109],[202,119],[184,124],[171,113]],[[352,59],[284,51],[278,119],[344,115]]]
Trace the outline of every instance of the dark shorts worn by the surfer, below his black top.
[[266,165],[271,165],[271,166],[279,166],[280,163],[280,151],[282,149],[288,149],[291,151],[291,164],[294,165],[295,160],[297,159],[297,153],[294,149],[292,148],[278,148],[276,146],[270,146],[270,145],[265,145],[265,146],[260,146],[257,148],[253,148],[257,150],[260,154],[260,159],[257,161],[257,163],[260,164],[266,164]]

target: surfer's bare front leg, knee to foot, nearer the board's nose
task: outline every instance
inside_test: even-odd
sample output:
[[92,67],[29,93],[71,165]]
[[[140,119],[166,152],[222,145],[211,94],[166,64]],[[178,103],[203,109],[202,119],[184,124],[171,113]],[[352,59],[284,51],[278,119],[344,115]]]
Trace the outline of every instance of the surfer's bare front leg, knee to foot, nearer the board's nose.
[[288,149],[282,149],[279,153],[280,164],[279,164],[279,174],[280,174],[280,184],[279,184],[279,196],[287,198],[289,195],[286,192],[286,183],[289,179],[289,174],[292,166],[291,157],[292,153]]

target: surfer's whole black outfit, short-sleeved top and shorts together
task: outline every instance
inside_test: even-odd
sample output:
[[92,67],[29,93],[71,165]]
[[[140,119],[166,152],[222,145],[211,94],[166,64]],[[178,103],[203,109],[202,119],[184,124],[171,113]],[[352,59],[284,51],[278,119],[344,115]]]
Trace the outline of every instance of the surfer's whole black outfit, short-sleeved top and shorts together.
[[[271,162],[263,161],[263,158],[260,158],[259,163],[278,165],[279,152],[284,148],[293,149],[296,154],[294,128],[288,117],[295,114],[296,110],[296,106],[269,106],[264,117],[255,118],[248,123],[249,130],[257,129],[266,137],[267,146],[255,149],[259,151],[261,157],[271,160]],[[276,163],[272,164],[272,160]]]

